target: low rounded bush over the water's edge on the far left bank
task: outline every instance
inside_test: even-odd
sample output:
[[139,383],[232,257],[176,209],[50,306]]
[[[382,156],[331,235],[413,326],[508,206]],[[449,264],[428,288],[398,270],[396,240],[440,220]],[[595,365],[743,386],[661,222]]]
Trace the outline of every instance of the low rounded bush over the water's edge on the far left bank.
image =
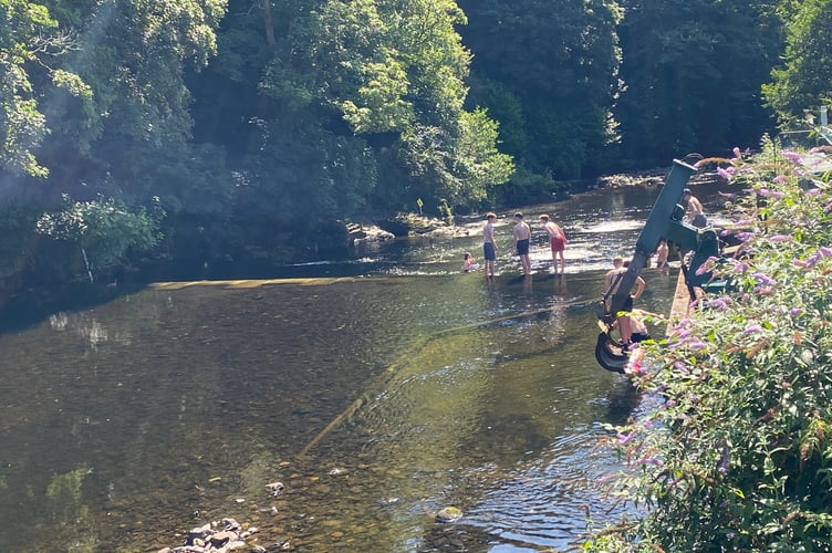
[[148,213],[144,209],[131,210],[112,198],[72,201],[64,195],[63,208],[43,213],[37,230],[54,240],[77,244],[92,267],[103,268],[123,261],[128,251],[138,253],[153,248],[163,217],[160,208]]

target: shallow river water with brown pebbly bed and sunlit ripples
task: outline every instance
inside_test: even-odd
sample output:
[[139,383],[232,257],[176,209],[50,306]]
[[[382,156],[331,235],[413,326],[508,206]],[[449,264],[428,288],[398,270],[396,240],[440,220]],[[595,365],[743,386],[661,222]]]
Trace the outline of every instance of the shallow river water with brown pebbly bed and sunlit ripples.
[[[565,276],[542,236],[519,276],[501,213],[493,280],[459,272],[481,258],[481,221],[461,221],[470,236],[156,283],[6,332],[0,550],[155,551],[226,517],[295,551],[576,546],[587,513],[621,515],[596,445],[638,398],[595,363],[594,303],[657,188],[524,209],[565,228]],[[669,312],[676,271],[643,275],[642,306]],[[464,517],[435,522],[448,505]]]

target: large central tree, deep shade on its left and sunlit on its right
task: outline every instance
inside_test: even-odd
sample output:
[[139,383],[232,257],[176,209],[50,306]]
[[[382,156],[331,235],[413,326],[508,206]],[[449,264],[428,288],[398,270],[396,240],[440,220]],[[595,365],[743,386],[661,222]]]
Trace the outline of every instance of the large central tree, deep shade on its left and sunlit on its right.
[[[262,30],[269,21],[271,34]],[[464,108],[470,54],[457,23],[450,0],[289,1],[268,17],[259,3],[232,2],[201,81],[222,91],[233,81],[251,102],[198,107],[197,129],[216,112],[250,122],[232,126],[245,136],[235,156],[253,187],[245,194],[258,189],[274,212],[299,220],[397,209],[417,197],[476,205],[510,164],[497,126]]]

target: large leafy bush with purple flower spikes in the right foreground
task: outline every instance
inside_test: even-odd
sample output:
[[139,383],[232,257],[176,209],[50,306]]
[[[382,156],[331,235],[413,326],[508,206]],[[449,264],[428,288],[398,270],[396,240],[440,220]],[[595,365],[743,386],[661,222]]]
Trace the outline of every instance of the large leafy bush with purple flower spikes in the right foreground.
[[[655,405],[609,444],[611,492],[645,512],[586,551],[829,551],[832,543],[831,149],[721,167],[746,194],[746,232],[708,261],[729,293],[644,345],[636,384]],[[644,367],[649,367],[646,371]]]

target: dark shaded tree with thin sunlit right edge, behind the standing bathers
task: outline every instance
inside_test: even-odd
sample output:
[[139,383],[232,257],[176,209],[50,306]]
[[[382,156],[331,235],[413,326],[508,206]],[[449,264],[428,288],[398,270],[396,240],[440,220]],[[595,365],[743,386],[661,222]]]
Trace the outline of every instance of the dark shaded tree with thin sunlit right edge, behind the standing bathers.
[[[475,53],[471,97],[502,122],[506,150],[531,171],[579,178],[615,140],[617,3],[461,0]],[[505,118],[503,118],[505,117]]]

